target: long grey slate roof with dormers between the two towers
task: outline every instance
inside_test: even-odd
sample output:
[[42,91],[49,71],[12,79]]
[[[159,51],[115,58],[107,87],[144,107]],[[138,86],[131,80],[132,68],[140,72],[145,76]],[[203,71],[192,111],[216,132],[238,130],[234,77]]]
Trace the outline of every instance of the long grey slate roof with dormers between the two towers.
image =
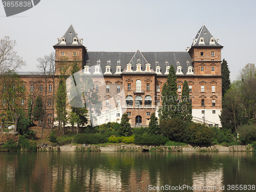
[[[114,75],[116,66],[119,65],[117,60],[120,60],[121,72],[125,70],[127,63],[132,63],[132,70],[135,71],[138,58],[142,64],[142,71],[145,71],[146,63],[151,63],[151,68],[154,71],[156,71],[156,66],[159,65],[162,74],[165,73],[167,65],[172,65],[175,69],[177,66],[181,66],[183,74],[186,74],[188,66],[192,66],[192,59],[188,52],[140,52],[139,50],[136,52],[87,52],[84,55],[84,65],[95,66],[99,59],[102,73],[105,72],[105,66],[110,65],[111,72]],[[88,62],[88,59],[90,62]],[[111,60],[111,63],[108,60]],[[91,71],[91,73],[94,73],[94,71]]]

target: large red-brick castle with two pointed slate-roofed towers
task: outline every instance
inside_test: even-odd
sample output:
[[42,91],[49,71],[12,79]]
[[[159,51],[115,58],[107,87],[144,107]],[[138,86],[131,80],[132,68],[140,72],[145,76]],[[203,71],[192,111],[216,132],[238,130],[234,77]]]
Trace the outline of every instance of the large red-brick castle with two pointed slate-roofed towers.
[[[188,82],[193,120],[220,126],[223,46],[205,25],[196,34],[191,47],[184,52],[90,52],[83,46],[83,39],[78,38],[72,25],[53,47],[56,78],[62,70],[63,60],[66,63],[78,62],[82,74],[102,75],[104,82],[94,82],[95,92],[102,101],[101,114],[95,119],[95,124],[120,122],[122,114],[127,113],[132,126],[148,125],[151,114],[158,115],[162,87],[172,65],[176,69],[179,97],[184,80]],[[26,82],[27,92],[33,93],[34,83],[44,84],[40,73],[18,74]],[[57,83],[54,87],[49,79],[46,87],[51,104],[52,91],[56,90]],[[38,89],[41,89],[40,86]],[[48,106],[48,123],[53,120],[50,111],[54,108]]]

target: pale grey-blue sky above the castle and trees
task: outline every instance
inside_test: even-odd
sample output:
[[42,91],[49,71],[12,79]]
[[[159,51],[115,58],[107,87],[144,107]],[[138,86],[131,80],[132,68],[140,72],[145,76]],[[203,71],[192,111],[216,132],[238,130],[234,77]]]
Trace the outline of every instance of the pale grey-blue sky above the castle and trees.
[[35,7],[6,17],[0,4],[0,39],[16,40],[27,62],[18,71],[38,71],[37,58],[72,24],[88,51],[185,51],[203,24],[220,39],[235,80],[247,63],[256,63],[256,1],[41,0]]

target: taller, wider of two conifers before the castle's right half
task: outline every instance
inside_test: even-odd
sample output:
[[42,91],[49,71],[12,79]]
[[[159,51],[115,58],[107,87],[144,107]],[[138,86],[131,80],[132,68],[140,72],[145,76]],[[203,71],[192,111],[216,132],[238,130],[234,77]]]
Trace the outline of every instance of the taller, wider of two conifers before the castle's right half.
[[162,107],[159,109],[160,120],[167,120],[180,115],[176,80],[175,69],[173,66],[170,66],[167,80],[162,89]]

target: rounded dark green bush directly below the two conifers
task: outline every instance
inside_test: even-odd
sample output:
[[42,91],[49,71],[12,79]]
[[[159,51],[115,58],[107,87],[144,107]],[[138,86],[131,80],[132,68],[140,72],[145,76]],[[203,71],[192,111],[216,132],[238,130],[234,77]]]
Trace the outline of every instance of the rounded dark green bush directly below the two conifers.
[[184,121],[179,117],[160,122],[160,129],[163,136],[174,141],[183,141],[185,127]]

